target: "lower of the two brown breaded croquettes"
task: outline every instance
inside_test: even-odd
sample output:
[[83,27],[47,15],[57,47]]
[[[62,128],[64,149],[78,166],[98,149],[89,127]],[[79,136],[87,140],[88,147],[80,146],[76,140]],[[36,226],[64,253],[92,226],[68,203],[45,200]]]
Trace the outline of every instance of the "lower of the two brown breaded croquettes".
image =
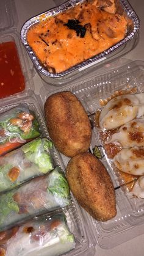
[[77,202],[93,218],[107,221],[117,214],[115,190],[103,164],[90,153],[71,158],[67,179]]

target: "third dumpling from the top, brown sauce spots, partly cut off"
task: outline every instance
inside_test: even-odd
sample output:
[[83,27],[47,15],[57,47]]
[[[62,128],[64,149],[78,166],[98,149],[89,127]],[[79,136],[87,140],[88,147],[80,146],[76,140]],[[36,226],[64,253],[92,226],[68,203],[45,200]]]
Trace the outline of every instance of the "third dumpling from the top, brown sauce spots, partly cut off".
[[114,158],[115,166],[122,172],[144,175],[144,147],[122,149]]

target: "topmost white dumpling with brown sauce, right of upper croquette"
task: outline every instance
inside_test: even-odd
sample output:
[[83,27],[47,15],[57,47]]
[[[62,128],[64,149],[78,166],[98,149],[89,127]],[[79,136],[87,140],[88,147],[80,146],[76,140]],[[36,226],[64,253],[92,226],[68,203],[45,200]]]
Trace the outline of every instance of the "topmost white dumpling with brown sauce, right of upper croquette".
[[144,113],[144,93],[121,95],[110,100],[99,115],[99,127],[112,130]]

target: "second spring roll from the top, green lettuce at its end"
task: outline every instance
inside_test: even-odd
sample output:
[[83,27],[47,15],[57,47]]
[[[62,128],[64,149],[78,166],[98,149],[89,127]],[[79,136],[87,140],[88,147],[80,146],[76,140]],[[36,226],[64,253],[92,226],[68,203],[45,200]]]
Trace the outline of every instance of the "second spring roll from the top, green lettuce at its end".
[[0,157],[0,191],[12,189],[53,169],[52,142],[34,139]]

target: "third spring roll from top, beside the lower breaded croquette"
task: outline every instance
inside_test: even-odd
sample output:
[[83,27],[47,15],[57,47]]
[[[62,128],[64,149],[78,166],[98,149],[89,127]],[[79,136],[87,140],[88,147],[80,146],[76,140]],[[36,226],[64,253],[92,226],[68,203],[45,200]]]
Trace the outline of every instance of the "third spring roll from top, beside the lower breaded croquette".
[[70,188],[57,166],[47,175],[36,177],[0,196],[0,231],[70,204]]

